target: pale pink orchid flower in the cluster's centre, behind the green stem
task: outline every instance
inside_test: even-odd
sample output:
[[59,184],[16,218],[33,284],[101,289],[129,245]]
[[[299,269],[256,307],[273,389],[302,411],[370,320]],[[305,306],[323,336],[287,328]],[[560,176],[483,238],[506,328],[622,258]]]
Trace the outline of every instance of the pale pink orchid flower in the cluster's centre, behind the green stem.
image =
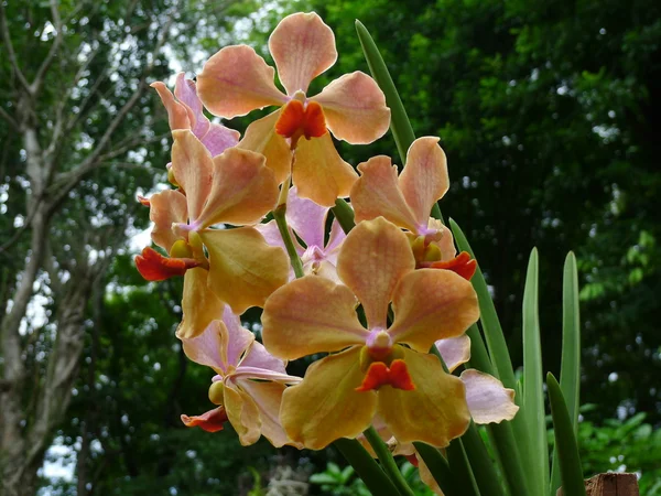
[[[311,200],[300,197],[295,186],[290,188],[285,218],[288,225],[305,244],[305,246],[302,246],[296,237],[292,236],[294,248],[303,263],[303,272],[339,282],[336,269],[337,256],[346,235],[337,219],[334,219],[328,241],[324,241],[328,211],[328,207],[323,207]],[[275,220],[260,224],[256,228],[263,235],[269,245],[286,249]],[[290,270],[290,280],[292,279],[294,279],[293,269]]]

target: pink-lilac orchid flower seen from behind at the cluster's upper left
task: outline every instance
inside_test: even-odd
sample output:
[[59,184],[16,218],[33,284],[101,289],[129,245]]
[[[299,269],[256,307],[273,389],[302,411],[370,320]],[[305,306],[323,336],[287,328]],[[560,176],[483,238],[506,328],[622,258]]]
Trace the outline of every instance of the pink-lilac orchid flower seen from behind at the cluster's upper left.
[[212,157],[219,155],[239,142],[240,134],[238,131],[212,122],[204,115],[195,82],[186,79],[184,73],[178,73],[176,76],[174,95],[164,83],[152,83],[151,87],[159,93],[165,110],[167,110],[170,129],[173,131],[189,129],[202,141],[202,144],[206,147]]

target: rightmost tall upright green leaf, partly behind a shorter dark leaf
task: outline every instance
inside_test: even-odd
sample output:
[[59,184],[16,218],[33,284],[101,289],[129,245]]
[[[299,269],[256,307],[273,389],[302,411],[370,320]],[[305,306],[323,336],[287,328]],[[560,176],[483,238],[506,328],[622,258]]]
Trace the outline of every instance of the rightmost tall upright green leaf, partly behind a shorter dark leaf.
[[[562,366],[560,369],[560,389],[566,400],[572,429],[574,430],[574,434],[576,434],[578,431],[578,398],[581,388],[581,317],[576,257],[571,251],[565,259],[562,293]],[[557,492],[560,484],[557,451],[554,450],[551,468],[551,494]]]

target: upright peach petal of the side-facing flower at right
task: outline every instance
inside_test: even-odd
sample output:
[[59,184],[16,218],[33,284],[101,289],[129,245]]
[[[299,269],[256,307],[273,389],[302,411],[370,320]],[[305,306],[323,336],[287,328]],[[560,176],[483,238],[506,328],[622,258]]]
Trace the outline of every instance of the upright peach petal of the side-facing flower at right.
[[424,137],[413,141],[399,184],[418,225],[426,227],[432,206],[449,187],[447,163],[438,138]]

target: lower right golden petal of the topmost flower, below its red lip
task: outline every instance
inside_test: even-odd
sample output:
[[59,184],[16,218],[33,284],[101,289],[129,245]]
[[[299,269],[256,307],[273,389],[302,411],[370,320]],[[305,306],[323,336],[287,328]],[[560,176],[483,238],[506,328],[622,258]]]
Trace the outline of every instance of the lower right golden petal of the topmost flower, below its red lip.
[[330,134],[299,140],[292,180],[302,198],[334,206],[336,198],[349,195],[357,179],[354,168],[335,150]]

